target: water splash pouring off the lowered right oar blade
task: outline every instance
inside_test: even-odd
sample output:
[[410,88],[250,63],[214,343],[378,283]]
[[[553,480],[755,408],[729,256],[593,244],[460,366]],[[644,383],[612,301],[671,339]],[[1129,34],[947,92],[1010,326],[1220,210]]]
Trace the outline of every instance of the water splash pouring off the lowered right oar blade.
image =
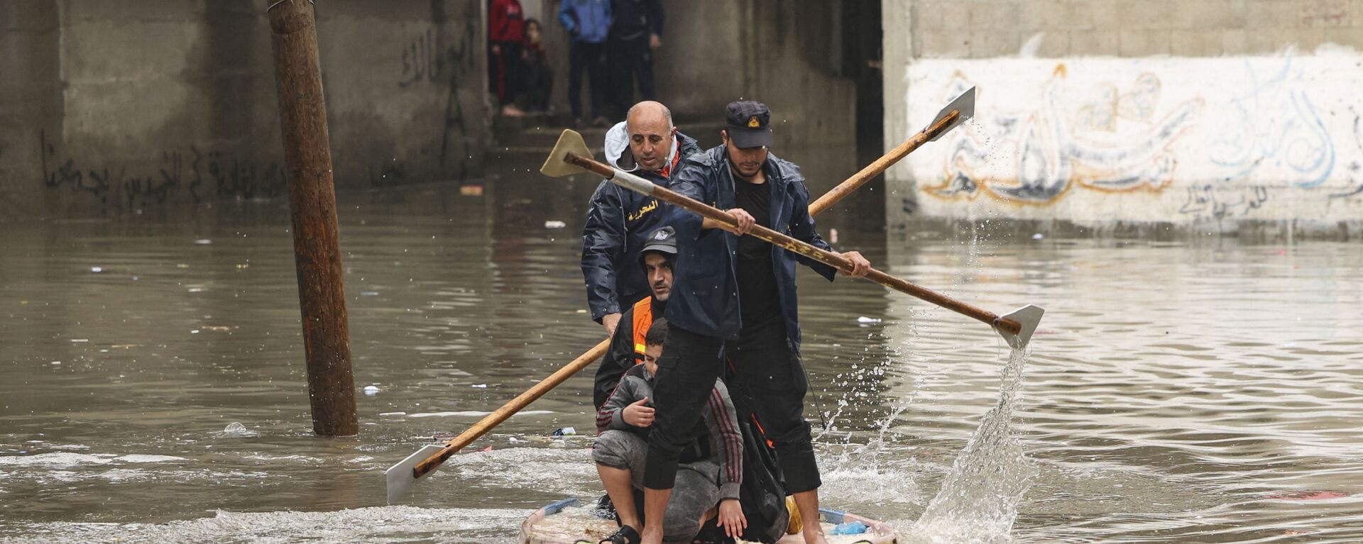
[[1026,350],[1013,349],[1003,367],[999,404],[980,420],[923,517],[908,532],[915,543],[1009,543],[1018,503],[1036,474],[1010,435],[1013,399],[1022,384]]

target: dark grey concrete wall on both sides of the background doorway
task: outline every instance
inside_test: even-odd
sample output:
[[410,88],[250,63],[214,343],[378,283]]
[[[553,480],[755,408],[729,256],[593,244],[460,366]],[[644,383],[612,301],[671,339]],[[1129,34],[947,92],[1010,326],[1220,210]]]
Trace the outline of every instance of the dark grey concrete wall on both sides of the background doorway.
[[[492,139],[484,1],[318,4],[339,188],[481,175]],[[567,112],[559,1],[523,4],[544,22],[553,104]],[[0,0],[0,221],[284,195],[266,5]],[[679,119],[720,121],[725,104],[761,100],[777,154],[807,166],[812,191],[856,170],[856,89],[837,65],[836,4],[665,8],[656,74]]]

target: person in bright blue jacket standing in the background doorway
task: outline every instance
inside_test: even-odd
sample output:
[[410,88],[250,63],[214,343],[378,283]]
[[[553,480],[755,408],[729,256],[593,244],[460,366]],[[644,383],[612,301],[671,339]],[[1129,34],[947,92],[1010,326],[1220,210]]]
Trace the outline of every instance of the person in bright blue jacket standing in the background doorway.
[[586,70],[592,85],[592,124],[607,127],[609,121],[601,113],[601,106],[605,102],[605,40],[611,31],[611,0],[563,0],[559,22],[572,35],[568,46],[568,104],[572,106],[572,124],[583,124],[582,71]]

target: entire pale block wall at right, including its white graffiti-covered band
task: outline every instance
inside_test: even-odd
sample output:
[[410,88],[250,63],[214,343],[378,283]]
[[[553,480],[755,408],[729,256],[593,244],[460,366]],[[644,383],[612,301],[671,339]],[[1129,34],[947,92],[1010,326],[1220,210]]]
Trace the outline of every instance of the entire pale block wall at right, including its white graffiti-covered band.
[[887,215],[1358,236],[1363,3],[885,1]]

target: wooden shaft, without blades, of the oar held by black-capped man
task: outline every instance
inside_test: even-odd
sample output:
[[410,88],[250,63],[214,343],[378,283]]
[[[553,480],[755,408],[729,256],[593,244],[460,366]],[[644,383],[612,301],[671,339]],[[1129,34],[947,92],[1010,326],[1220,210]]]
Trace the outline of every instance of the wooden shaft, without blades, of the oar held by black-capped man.
[[[672,190],[669,190],[667,187],[654,185],[653,183],[649,183],[647,180],[643,180],[643,179],[641,179],[638,176],[634,176],[634,175],[630,175],[627,172],[616,172],[613,168],[607,166],[605,164],[597,162],[597,161],[594,161],[592,158],[582,157],[582,155],[579,155],[577,153],[568,153],[567,157],[564,158],[564,161],[571,162],[574,165],[578,165],[581,168],[585,168],[587,170],[592,170],[593,173],[598,175],[601,177],[605,177],[605,179],[611,180],[612,183],[623,185],[624,188],[628,188],[631,191],[637,191],[637,192],[642,192],[645,195],[654,196],[658,200],[671,202],[671,203],[673,203],[673,205],[676,205],[676,206],[679,206],[682,209],[686,209],[686,210],[692,211],[695,214],[699,214],[702,217],[707,217],[710,220],[722,222],[722,224],[729,225],[729,226],[737,225],[737,222],[733,220],[733,215],[729,215],[728,211],[720,210],[720,209],[717,209],[714,206],[707,206],[707,205],[705,205],[702,202],[694,200],[690,196],[686,196],[683,194],[672,191]],[[816,247],[810,245],[810,244],[807,244],[804,241],[796,240],[796,239],[793,239],[791,236],[786,236],[786,235],[782,235],[780,232],[771,230],[771,229],[769,229],[766,226],[762,226],[762,225],[754,226],[752,230],[748,232],[748,236],[755,236],[758,239],[766,240],[766,241],[769,241],[769,243],[771,243],[771,244],[774,244],[774,245],[777,245],[777,247],[780,247],[780,248],[782,248],[785,251],[791,251],[791,252],[795,252],[797,255],[807,256],[810,259],[814,259],[814,260],[818,260],[821,263],[829,265],[829,266],[831,266],[834,269],[838,269],[838,270],[842,270],[845,273],[851,273],[852,271],[852,262],[848,260],[848,259],[844,259],[842,255],[834,254],[831,251],[825,251],[825,250],[816,248]],[[973,307],[970,304],[966,304],[966,303],[962,303],[960,300],[947,297],[946,294],[940,294],[940,293],[936,293],[934,290],[928,290],[925,288],[909,284],[909,282],[906,282],[904,279],[895,278],[895,277],[893,277],[890,274],[886,274],[886,273],[875,270],[875,269],[871,269],[871,273],[868,273],[866,275],[866,278],[870,279],[870,281],[874,281],[876,284],[885,285],[885,286],[887,286],[890,289],[894,289],[894,290],[898,290],[898,292],[902,292],[902,293],[908,293],[908,294],[916,296],[919,299],[923,299],[923,300],[925,300],[928,303],[936,304],[936,305],[943,307],[946,309],[954,311],[957,314],[961,314],[961,315],[965,315],[965,316],[969,316],[969,318],[975,318],[976,320],[984,322],[985,324],[988,324],[988,326],[991,326],[994,329],[1002,330],[1005,333],[1009,333],[1009,334],[1018,334],[1018,331],[1022,330],[1022,323],[1018,323],[1014,319],[1003,318],[1003,316],[999,316],[998,314],[990,312],[987,309],[976,308],[976,307]]]

